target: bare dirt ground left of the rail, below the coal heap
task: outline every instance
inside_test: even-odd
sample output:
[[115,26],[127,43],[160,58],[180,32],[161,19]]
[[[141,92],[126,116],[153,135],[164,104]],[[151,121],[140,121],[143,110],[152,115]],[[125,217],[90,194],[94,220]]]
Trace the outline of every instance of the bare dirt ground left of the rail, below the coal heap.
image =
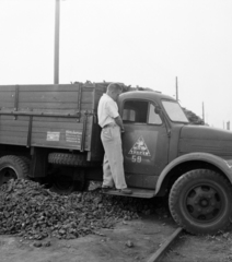
[[[132,262],[147,261],[176,228],[171,217],[158,215],[120,222],[114,229],[72,240],[23,240],[0,236],[1,262]],[[49,246],[50,243],[50,246]],[[49,247],[45,247],[45,246]]]

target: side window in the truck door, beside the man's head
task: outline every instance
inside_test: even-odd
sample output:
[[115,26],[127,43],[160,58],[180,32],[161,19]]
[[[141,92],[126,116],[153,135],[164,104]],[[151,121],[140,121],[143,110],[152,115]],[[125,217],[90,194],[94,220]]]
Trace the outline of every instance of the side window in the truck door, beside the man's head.
[[124,122],[161,124],[162,120],[150,102],[127,100],[124,104]]

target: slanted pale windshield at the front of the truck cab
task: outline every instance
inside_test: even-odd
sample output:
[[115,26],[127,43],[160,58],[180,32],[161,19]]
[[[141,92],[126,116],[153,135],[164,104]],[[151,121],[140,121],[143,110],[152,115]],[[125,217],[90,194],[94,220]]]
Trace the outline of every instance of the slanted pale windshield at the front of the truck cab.
[[174,122],[188,122],[187,117],[176,102],[162,100],[163,107],[170,119]]

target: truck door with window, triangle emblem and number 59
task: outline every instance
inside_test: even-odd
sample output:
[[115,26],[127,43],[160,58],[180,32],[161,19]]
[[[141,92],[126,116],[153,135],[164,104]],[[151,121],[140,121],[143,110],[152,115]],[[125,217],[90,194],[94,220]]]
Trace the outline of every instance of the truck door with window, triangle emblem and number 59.
[[155,104],[149,100],[127,99],[123,104],[123,153],[129,187],[154,189],[167,164],[167,130],[154,109]]

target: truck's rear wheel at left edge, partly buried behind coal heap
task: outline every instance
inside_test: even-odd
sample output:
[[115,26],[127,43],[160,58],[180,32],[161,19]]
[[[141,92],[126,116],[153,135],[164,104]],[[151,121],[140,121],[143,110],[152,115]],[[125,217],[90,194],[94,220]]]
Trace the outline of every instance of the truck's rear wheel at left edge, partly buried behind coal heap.
[[19,156],[8,155],[0,158],[0,186],[10,179],[27,179],[28,166]]

